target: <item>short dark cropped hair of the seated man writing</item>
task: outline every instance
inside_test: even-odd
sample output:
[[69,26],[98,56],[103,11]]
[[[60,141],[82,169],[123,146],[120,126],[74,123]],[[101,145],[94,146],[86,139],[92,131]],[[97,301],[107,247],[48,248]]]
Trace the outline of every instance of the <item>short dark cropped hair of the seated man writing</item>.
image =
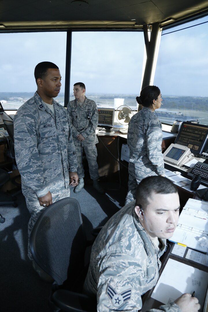
[[177,187],[171,180],[162,176],[152,176],[144,178],[136,190],[135,206],[145,208],[153,194],[170,194],[178,193]]

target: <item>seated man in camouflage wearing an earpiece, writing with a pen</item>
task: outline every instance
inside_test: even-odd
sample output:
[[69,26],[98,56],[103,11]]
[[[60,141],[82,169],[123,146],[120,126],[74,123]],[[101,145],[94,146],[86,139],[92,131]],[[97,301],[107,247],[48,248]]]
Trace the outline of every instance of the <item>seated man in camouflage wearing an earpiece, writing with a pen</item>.
[[[158,280],[166,239],[179,217],[176,186],[167,178],[145,178],[130,202],[105,224],[96,238],[84,292],[97,297],[98,312],[142,309],[142,298]],[[196,312],[198,299],[184,294],[154,312]]]

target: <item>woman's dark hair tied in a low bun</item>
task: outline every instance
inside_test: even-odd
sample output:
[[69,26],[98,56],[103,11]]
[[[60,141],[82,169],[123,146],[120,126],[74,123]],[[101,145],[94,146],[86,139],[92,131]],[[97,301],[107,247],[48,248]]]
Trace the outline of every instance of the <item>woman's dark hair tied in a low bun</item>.
[[141,90],[140,96],[137,96],[136,100],[138,104],[144,107],[151,107],[152,100],[157,100],[159,95],[160,89],[156,85],[147,85]]

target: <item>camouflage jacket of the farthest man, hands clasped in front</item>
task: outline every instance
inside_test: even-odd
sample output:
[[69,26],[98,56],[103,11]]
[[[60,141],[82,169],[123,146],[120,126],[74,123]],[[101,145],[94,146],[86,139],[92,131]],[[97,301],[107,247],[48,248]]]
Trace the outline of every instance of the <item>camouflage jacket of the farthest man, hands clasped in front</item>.
[[[80,106],[77,100],[73,100],[67,105],[67,110],[70,116],[73,139],[75,140],[81,134],[85,138],[82,141],[82,145],[98,143],[98,138],[95,134],[98,126],[98,109],[96,103],[85,96],[83,105]],[[89,116],[89,119],[87,116]]]

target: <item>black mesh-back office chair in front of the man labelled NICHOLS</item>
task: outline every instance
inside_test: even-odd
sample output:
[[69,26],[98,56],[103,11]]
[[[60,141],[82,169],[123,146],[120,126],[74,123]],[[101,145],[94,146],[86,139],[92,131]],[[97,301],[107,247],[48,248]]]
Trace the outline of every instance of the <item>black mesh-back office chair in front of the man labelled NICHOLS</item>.
[[30,235],[34,261],[55,282],[49,306],[53,311],[94,312],[96,300],[83,295],[82,286],[87,240],[79,202],[67,197],[47,207],[37,219]]

